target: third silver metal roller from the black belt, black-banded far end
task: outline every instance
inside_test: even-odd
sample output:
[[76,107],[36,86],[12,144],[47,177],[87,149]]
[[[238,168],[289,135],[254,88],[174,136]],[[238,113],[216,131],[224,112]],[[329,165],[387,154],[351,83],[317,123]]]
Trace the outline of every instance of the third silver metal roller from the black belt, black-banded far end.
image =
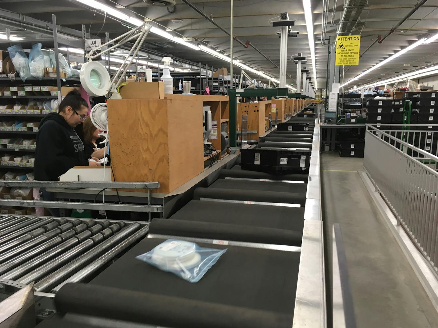
[[[113,227],[113,226],[117,226],[117,227]],[[102,226],[100,226],[100,227],[102,227]],[[113,227],[114,229],[120,229],[120,226],[117,223],[113,224],[110,227]],[[78,244],[74,248],[71,248],[70,250],[66,251],[64,254],[59,255],[57,258],[53,258],[53,260],[50,260],[49,262],[44,263],[44,265],[40,266],[39,268],[33,270],[32,272],[29,272],[28,274],[26,274],[25,276],[22,276],[21,278],[15,279],[15,280],[17,280],[21,283],[25,283],[25,284],[31,283],[32,281],[38,281],[39,279],[44,277],[46,274],[53,272],[53,270],[56,270],[60,266],[64,265],[66,262],[72,261],[76,256],[79,256],[79,255],[83,254],[85,251],[88,251],[95,244],[101,242],[105,238],[104,236],[106,236],[106,235],[111,236],[113,234],[113,230],[111,230],[109,227],[106,228],[105,230],[107,230],[106,234],[103,234],[103,231],[102,231],[102,233],[99,233],[102,235],[102,238],[99,238],[99,236],[97,236],[97,238],[96,238],[96,236],[93,236],[95,238],[86,237],[85,241],[82,241],[80,244]],[[85,230],[81,234],[85,234],[87,232],[89,232],[91,234],[91,232],[89,230]],[[81,234],[79,234],[79,235],[81,235]],[[79,235],[76,237],[79,237]]]

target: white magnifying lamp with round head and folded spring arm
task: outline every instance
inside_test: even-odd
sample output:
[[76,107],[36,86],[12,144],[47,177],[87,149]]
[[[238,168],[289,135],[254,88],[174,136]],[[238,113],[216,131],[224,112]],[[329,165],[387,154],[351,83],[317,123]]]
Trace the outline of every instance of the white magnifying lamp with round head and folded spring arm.
[[[134,57],[137,56],[138,51],[140,50],[141,45],[145,42],[145,38],[151,29],[151,24],[145,23],[137,28],[128,31],[113,40],[106,42],[103,45],[100,45],[96,48],[93,48],[90,52],[88,52],[85,57],[88,58],[88,62],[82,65],[81,71],[79,73],[79,77],[81,80],[82,87],[85,91],[88,92],[90,96],[100,97],[106,95],[108,92],[112,93],[112,99],[121,99],[120,94],[117,92],[117,88],[123,81],[123,78],[129,68],[131,66]],[[120,65],[117,73],[114,74],[113,78],[109,76],[106,67],[99,62],[93,62],[92,59],[95,59],[102,54],[111,51],[114,48],[123,45],[124,43],[136,38],[134,45],[132,45],[131,50],[127,52],[127,56],[124,59],[124,62]],[[110,45],[114,43],[114,45]],[[101,52],[96,53],[97,50],[108,47]],[[94,54],[94,55],[93,55]]]

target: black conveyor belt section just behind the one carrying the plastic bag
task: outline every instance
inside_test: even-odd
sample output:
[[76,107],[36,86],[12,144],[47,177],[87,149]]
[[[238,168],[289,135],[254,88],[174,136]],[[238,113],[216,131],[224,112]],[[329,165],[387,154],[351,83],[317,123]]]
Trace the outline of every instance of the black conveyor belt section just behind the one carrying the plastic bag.
[[300,246],[304,208],[192,200],[151,234]]

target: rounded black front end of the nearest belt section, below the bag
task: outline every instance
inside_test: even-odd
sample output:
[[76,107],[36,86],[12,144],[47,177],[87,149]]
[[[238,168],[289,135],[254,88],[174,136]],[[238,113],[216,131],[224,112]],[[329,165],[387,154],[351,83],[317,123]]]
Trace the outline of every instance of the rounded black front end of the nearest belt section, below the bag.
[[[114,298],[115,295],[117,298]],[[132,322],[138,322],[171,328],[288,327],[288,323],[290,326],[291,322],[289,314],[279,312],[232,307],[94,284],[67,284],[57,293],[55,303],[62,313],[92,316],[92,320],[88,320],[92,325],[73,323],[71,321],[74,318],[70,316],[64,320],[47,320],[38,328],[108,327],[108,321],[107,325],[105,321],[101,321],[99,325],[97,318],[119,320],[111,322],[111,327],[118,328],[123,327],[120,321],[131,322],[128,323],[129,327],[132,326]],[[68,321],[69,319],[71,321]]]

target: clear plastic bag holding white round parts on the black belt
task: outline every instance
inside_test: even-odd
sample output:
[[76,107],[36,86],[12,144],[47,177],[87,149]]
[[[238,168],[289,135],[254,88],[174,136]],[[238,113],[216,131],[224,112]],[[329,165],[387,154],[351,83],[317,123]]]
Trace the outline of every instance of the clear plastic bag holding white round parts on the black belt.
[[136,258],[196,283],[225,251],[226,249],[200,247],[190,241],[168,239]]

